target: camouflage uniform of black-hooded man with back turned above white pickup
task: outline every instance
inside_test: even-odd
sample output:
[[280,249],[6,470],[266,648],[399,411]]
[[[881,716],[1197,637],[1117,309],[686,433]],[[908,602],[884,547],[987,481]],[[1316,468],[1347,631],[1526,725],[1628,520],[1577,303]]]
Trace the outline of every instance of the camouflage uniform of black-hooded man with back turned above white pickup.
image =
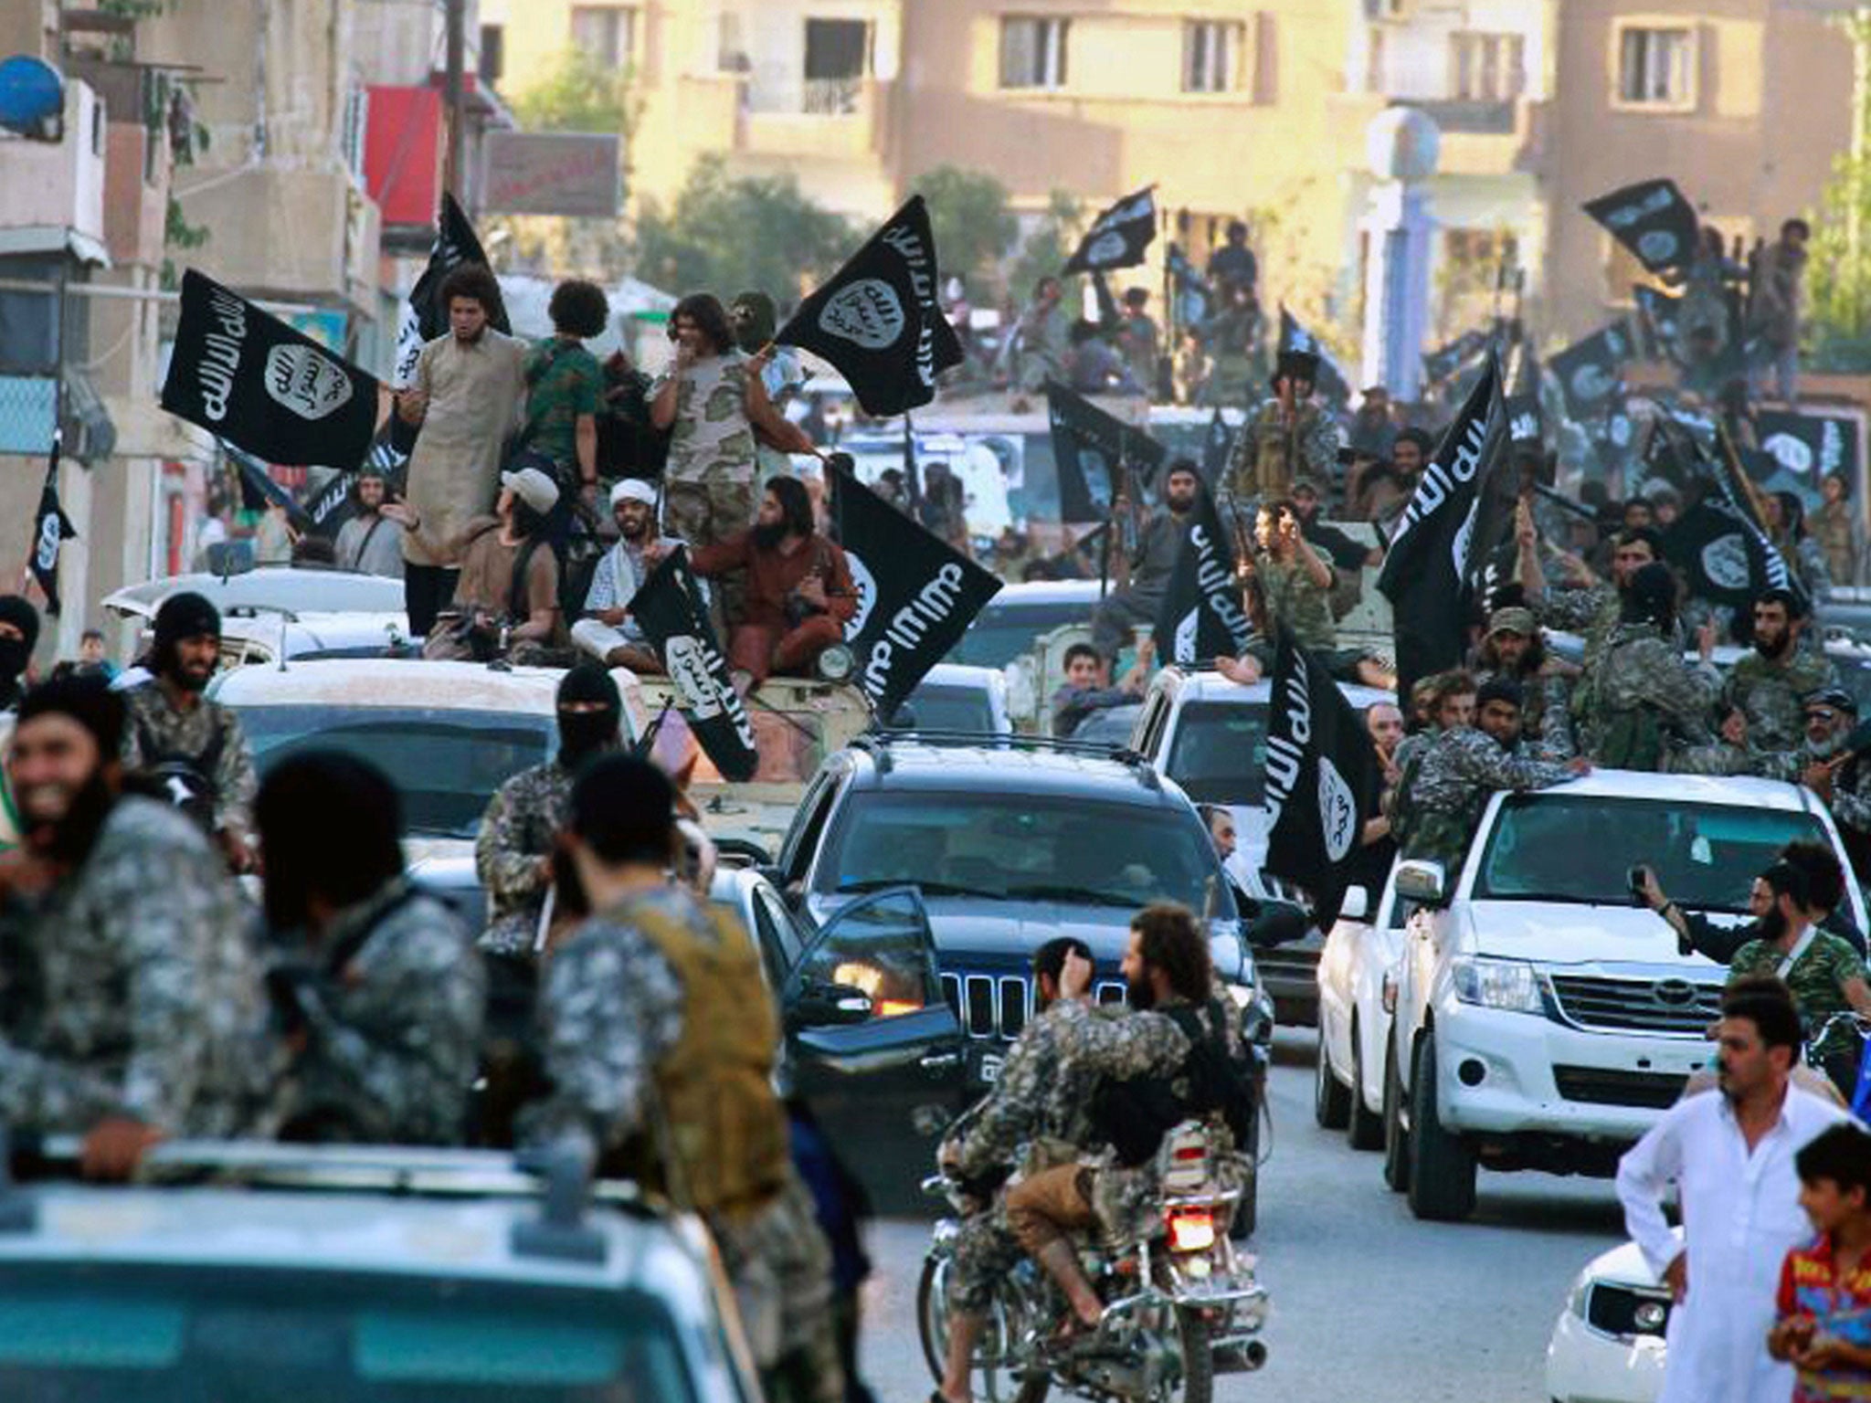
[[1721,679],[1708,664],[1684,662],[1654,623],[1613,629],[1581,690],[1590,692],[1594,763],[1671,769],[1673,756],[1714,739],[1708,711]]

